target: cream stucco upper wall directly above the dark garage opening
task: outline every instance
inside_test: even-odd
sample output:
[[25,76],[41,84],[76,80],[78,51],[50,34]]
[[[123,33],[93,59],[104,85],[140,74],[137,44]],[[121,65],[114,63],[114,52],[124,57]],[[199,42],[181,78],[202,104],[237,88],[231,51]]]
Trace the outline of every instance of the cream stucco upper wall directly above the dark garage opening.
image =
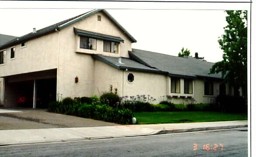
[[[6,64],[0,65],[0,77],[57,68],[58,34],[52,33],[7,48]],[[15,47],[15,57],[10,58],[10,49]]]

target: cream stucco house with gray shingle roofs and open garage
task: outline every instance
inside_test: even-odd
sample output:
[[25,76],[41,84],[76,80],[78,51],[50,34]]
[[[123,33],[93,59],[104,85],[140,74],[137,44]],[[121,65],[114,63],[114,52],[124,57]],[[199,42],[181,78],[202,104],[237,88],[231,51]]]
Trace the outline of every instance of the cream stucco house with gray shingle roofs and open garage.
[[0,101],[15,107],[47,107],[64,97],[150,95],[174,103],[194,98],[210,103],[221,91],[220,74],[209,75],[214,63],[131,48],[137,42],[106,10],[91,10],[0,45]]

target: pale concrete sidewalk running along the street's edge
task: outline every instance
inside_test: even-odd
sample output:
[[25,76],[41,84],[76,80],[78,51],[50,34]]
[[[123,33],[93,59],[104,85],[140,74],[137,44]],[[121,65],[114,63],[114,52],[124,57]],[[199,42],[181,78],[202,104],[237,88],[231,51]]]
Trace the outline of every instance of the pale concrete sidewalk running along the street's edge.
[[180,133],[189,131],[231,129],[247,127],[247,123],[247,120],[242,120],[202,123],[170,123],[79,128],[0,130],[0,146],[28,143],[145,136],[161,133]]

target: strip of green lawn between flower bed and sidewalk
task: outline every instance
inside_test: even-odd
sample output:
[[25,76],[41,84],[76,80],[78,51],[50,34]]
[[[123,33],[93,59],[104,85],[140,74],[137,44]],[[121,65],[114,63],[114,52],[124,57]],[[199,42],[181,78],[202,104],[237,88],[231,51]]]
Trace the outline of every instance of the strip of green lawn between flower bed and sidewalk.
[[247,113],[222,112],[135,112],[134,116],[139,124],[247,120]]

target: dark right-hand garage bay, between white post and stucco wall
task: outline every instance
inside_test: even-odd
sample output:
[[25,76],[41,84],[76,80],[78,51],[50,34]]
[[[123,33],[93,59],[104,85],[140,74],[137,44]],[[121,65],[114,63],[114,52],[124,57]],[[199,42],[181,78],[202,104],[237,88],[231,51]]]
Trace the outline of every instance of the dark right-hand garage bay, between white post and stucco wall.
[[56,101],[56,78],[36,80],[36,108],[46,109],[51,101]]

